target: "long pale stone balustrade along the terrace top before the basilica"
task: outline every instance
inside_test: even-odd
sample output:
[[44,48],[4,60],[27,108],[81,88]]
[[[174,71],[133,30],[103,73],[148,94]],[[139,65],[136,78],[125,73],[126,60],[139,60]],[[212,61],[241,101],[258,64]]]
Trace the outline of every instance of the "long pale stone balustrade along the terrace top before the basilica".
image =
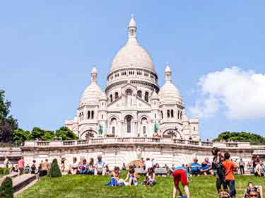
[[151,138],[151,137],[109,137],[73,141],[25,141],[24,147],[69,147],[101,144],[179,144],[186,146],[219,148],[253,148],[249,143],[222,143],[211,141],[192,141],[185,139]]

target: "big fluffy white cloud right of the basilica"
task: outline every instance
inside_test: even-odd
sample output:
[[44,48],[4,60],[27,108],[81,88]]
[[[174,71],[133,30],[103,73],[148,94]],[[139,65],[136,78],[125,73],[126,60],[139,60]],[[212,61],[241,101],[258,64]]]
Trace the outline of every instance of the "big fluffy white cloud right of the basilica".
[[265,117],[265,75],[238,67],[216,71],[199,79],[199,98],[189,111],[213,117],[220,110],[230,119]]

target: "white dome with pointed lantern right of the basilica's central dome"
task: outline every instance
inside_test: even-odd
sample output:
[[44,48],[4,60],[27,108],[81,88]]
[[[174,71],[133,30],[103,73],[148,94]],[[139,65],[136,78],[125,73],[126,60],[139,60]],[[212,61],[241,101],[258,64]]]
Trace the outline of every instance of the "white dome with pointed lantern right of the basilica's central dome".
[[169,64],[165,68],[165,84],[158,93],[160,103],[182,103],[182,97],[177,87],[171,80],[171,69]]

